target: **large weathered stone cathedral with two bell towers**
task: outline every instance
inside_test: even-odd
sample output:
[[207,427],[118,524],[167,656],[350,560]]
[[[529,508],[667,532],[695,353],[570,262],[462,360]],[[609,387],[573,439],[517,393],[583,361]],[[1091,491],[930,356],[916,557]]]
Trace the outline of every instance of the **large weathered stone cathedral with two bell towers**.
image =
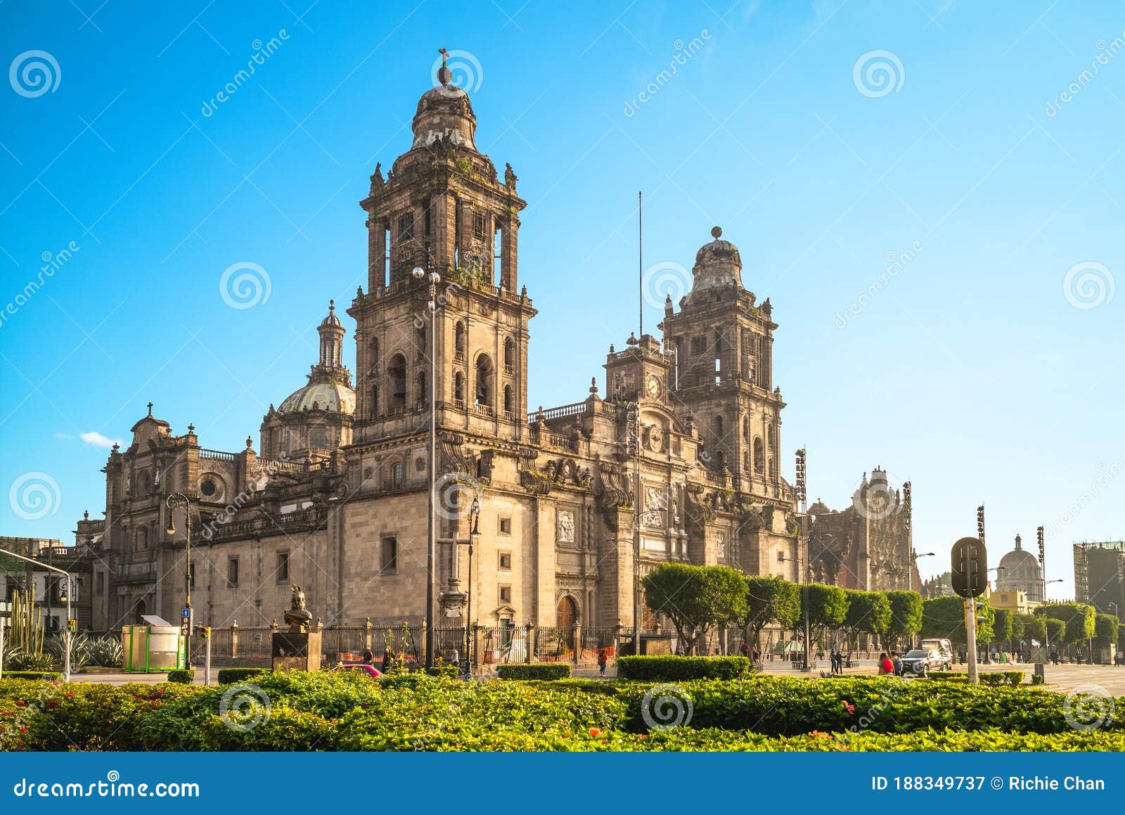
[[[269,625],[298,584],[325,625],[415,626],[432,484],[435,592],[471,599],[471,620],[450,608],[444,625],[628,629],[637,575],[665,562],[800,580],[777,324],[742,285],[738,249],[712,230],[659,337],[622,338],[601,387],[529,411],[538,310],[520,279],[525,201],[512,168],[497,172],[477,150],[468,95],[447,69],[438,78],[410,149],[386,177],[376,167],[360,201],[368,275],[346,308],[354,380],[330,303],[308,380],[266,410],[256,450],[253,438],[237,451],[201,447],[150,404],[109,455],[105,519],[78,523],[79,543],[98,552],[93,628],[178,619],[188,580],[199,624]],[[183,510],[173,519],[165,503],[173,492],[189,499],[190,566]],[[471,562],[458,543],[469,539]]]

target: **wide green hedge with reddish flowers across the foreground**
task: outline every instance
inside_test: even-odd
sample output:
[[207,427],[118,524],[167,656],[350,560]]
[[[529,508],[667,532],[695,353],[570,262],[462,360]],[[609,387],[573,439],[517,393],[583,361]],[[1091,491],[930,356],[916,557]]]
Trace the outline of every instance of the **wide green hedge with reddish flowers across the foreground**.
[[692,700],[686,726],[647,732],[641,705],[659,687],[450,682],[422,672],[378,682],[353,672],[263,673],[243,689],[14,680],[0,682],[0,751],[1125,751],[1125,724],[1076,732],[1063,695],[1032,688],[688,681],[678,687]]

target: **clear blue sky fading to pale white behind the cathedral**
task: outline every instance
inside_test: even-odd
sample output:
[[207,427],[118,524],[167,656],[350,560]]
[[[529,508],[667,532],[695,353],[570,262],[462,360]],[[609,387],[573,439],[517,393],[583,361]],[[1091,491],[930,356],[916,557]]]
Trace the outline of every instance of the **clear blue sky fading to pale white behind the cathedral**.
[[[984,501],[993,559],[1045,525],[1072,595],[1071,543],[1125,534],[1125,6],[982,6],[4,2],[0,486],[57,492],[37,519],[0,503],[2,532],[98,517],[106,445],[150,400],[256,447],[363,281],[357,201],[446,46],[529,201],[532,406],[583,398],[636,329],[644,190],[646,267],[690,269],[718,224],[771,298],[810,499],[843,508],[883,465],[943,553]],[[270,295],[232,308],[243,262]]]

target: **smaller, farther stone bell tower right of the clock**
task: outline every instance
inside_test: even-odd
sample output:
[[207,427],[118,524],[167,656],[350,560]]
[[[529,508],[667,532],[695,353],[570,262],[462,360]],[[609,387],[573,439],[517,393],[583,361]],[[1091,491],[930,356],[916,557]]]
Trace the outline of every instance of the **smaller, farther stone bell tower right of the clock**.
[[739,489],[782,496],[781,391],[773,385],[773,306],[742,286],[738,248],[722,230],[695,254],[692,290],[664,306],[660,328],[674,355],[669,391],[704,445],[701,460]]

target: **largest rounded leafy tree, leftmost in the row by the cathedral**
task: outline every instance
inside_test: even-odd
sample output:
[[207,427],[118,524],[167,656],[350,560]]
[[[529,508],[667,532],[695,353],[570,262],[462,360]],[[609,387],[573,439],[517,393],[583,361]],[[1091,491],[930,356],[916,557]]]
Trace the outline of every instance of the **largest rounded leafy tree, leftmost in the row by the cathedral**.
[[746,616],[746,583],[729,566],[662,563],[641,581],[645,602],[672,620],[692,653],[713,626]]

